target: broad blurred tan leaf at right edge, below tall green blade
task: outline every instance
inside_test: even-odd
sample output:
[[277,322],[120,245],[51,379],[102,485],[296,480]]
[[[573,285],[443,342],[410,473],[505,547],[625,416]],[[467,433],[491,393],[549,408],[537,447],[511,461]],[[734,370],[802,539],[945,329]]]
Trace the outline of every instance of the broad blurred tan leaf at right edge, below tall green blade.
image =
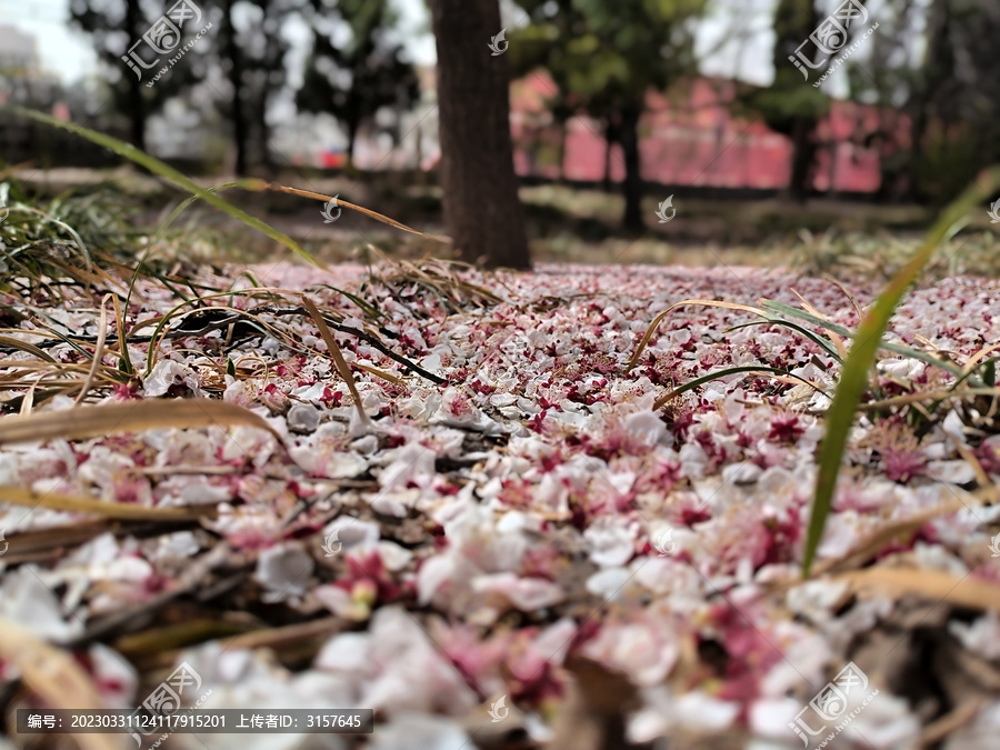
[[833,576],[856,593],[876,593],[900,599],[919,597],[954,607],[1000,612],[1000,583],[971,576],[952,576],[940,570],[916,568],[867,568]]

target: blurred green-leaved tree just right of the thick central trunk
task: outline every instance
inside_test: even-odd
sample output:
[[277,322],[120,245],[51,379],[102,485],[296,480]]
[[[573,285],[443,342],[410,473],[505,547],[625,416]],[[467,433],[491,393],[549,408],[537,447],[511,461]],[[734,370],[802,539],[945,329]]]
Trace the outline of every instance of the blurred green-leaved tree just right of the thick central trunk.
[[641,229],[643,183],[639,121],[650,90],[666,91],[696,73],[694,21],[706,0],[521,0],[531,26],[512,36],[524,46],[519,73],[543,67],[569,102],[603,123],[608,147],[624,158],[623,223]]

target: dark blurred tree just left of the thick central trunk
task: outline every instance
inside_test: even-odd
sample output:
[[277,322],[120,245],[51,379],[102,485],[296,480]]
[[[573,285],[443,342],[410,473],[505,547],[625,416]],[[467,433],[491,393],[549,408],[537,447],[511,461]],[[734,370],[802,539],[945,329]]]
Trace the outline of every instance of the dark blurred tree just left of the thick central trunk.
[[[336,13],[314,0],[312,53],[296,104],[303,112],[329,112],[348,137],[353,162],[358,131],[383,107],[409,109],[420,94],[413,67],[391,40],[397,13],[389,0],[339,0]],[[350,39],[341,41],[344,26]]]

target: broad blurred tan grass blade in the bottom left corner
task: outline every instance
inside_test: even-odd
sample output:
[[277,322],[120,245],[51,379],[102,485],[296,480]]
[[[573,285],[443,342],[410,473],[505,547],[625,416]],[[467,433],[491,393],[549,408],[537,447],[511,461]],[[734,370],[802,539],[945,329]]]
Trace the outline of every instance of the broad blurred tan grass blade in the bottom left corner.
[[[97,699],[98,687],[71,653],[49,646],[10,620],[0,619],[0,658],[13,664],[24,683],[50,708],[107,708]],[[73,737],[83,750],[121,750],[124,744],[124,734]]]

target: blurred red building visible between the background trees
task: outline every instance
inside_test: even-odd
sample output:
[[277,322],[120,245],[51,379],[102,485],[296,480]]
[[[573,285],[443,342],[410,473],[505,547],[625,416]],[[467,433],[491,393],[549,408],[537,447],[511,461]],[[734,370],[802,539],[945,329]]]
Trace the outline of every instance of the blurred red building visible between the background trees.
[[[514,167],[521,176],[560,177],[562,129],[553,123],[546,100],[556,91],[546,73],[516,81],[511,89]],[[732,116],[733,81],[698,79],[686,101],[658,92],[647,97],[640,123],[642,178],[670,186],[781,190],[791,171],[791,141],[760,121]],[[866,148],[860,133],[880,130],[876,107],[833,100],[819,126],[820,150],[812,187],[820,192],[874,192],[880,184],[879,150]],[[600,122],[571,118],[564,132],[562,177],[604,179],[606,143]],[[610,159],[612,181],[624,179],[620,147]]]

